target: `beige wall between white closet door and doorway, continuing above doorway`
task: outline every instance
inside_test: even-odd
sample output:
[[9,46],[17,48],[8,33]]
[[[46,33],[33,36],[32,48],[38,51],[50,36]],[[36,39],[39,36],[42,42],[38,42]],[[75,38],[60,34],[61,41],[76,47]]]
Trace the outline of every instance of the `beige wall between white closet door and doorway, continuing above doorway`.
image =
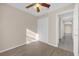
[[60,12],[63,12],[63,11],[66,11],[66,10],[70,10],[70,9],[73,9],[74,7],[74,4],[70,4],[68,6],[65,6],[65,7],[62,7],[62,8],[59,8],[55,11],[52,11],[46,15],[43,15],[42,17],[48,17],[48,32],[49,32],[49,39],[48,39],[48,43],[49,44],[52,44],[52,45],[56,45],[56,14],[57,13],[60,13]]

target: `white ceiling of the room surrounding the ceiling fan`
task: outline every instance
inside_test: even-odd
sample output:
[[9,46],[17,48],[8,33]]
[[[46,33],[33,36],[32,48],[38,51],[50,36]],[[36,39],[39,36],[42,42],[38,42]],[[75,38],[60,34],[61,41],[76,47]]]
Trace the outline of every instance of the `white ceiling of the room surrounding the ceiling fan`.
[[48,12],[51,12],[51,11],[54,11],[58,8],[61,8],[61,7],[64,7],[66,5],[69,5],[69,3],[50,3],[51,7],[50,8],[45,8],[45,7],[41,7],[41,11],[39,13],[36,12],[36,9],[35,7],[31,7],[29,9],[25,8],[27,5],[29,5],[31,3],[9,3],[9,5],[13,6],[13,7],[16,7],[20,10],[23,10],[27,13],[30,13],[34,16],[41,16],[41,15],[44,15]]

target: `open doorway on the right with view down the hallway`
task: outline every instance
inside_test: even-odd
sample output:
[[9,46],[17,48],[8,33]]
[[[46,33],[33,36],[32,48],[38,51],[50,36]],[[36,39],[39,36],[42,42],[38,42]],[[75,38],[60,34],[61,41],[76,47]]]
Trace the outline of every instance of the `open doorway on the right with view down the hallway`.
[[59,15],[58,47],[73,52],[73,12]]

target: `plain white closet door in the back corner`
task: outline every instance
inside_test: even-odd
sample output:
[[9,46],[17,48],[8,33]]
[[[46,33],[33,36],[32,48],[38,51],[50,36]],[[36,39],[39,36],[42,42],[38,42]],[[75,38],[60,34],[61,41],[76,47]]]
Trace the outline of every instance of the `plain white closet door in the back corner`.
[[38,19],[39,40],[45,43],[48,42],[48,18]]

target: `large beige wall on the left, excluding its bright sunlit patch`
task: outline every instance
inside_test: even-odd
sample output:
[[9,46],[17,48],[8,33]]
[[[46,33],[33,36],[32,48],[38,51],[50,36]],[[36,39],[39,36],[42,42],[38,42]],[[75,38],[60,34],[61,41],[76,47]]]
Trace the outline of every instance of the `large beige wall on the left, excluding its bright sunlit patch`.
[[26,29],[37,32],[37,18],[0,4],[0,51],[26,43]]

